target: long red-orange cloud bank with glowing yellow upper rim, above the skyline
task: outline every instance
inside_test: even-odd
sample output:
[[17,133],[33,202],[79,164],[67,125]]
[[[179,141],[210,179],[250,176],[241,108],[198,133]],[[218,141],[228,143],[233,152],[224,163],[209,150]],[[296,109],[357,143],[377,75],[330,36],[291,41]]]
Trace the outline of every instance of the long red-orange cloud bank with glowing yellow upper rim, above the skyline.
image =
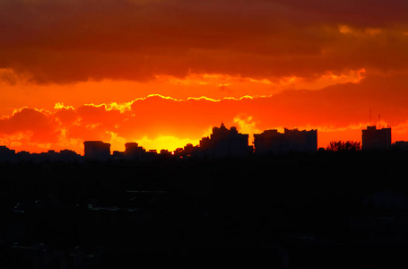
[[[319,135],[319,139],[326,139],[319,141],[325,143],[329,134],[342,132],[353,132],[353,140],[360,140],[360,129],[370,124],[369,110],[374,124],[381,114],[383,125],[405,129],[408,114],[405,85],[404,75],[395,75],[392,80],[367,75],[360,83],[337,84],[319,91],[282,91],[265,97],[177,100],[156,94],[124,104],[90,104],[78,108],[58,104],[49,111],[22,108],[0,119],[0,143],[36,152],[50,148],[82,152],[85,140],[113,142],[116,139],[115,144],[124,144],[173,136],[198,143],[221,121],[226,126],[245,124],[241,127],[253,131],[317,128],[319,134],[326,133],[326,138]],[[399,140],[404,139],[403,129],[398,135]],[[350,135],[347,137],[350,140]]]

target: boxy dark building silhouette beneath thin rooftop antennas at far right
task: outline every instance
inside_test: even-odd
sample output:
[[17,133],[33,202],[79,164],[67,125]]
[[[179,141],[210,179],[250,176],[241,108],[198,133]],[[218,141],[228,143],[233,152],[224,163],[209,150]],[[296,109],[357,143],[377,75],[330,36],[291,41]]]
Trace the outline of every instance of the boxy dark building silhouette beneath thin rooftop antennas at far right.
[[391,128],[377,129],[377,126],[367,126],[362,130],[363,151],[389,150],[391,148]]

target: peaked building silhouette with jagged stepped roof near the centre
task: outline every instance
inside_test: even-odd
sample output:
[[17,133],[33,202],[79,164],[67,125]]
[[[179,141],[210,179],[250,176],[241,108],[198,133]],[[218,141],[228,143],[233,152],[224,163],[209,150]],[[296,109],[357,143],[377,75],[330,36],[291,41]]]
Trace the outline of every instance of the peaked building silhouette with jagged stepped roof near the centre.
[[242,157],[253,152],[248,145],[248,134],[239,134],[237,128],[213,127],[213,134],[200,140],[200,148],[205,156],[214,158]]

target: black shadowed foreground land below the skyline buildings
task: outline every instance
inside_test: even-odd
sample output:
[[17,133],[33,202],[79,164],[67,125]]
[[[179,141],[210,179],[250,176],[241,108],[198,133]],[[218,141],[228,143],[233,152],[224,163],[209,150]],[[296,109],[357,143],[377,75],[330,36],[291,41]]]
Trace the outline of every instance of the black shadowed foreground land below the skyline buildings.
[[3,163],[0,268],[406,268],[407,163]]

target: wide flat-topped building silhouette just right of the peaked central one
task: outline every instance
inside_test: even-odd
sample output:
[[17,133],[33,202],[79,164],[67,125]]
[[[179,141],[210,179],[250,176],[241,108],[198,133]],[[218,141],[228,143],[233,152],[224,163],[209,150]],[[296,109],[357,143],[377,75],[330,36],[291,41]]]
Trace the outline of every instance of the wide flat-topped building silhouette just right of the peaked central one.
[[317,130],[299,131],[298,129],[265,130],[254,134],[255,152],[257,154],[281,154],[286,152],[316,152]]

